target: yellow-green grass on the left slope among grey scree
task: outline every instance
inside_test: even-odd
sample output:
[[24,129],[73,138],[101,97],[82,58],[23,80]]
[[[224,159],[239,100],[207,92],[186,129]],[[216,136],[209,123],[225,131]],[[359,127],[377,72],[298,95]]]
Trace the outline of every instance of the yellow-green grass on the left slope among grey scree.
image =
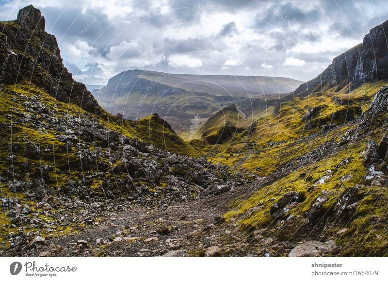
[[[56,190],[64,184],[67,184],[69,180],[79,181],[81,174],[83,174],[83,171],[78,168],[77,165],[80,162],[80,155],[76,150],[64,151],[61,149],[61,147],[63,148],[65,146],[65,143],[59,140],[58,135],[55,135],[52,124],[46,119],[43,119],[44,124],[47,125],[46,129],[40,128],[39,130],[36,130],[30,122],[26,122],[22,125],[12,124],[12,120],[16,118],[16,111],[25,114],[29,114],[30,112],[28,106],[26,106],[23,101],[25,99],[22,98],[22,95],[29,99],[34,98],[37,102],[46,105],[47,108],[54,113],[52,115],[53,117],[66,118],[66,116],[87,116],[88,119],[98,121],[106,128],[110,128],[111,130],[122,133],[128,137],[137,137],[139,140],[151,142],[160,149],[165,149],[165,147],[167,147],[169,151],[179,152],[184,155],[201,155],[197,150],[183,142],[183,140],[172,130],[163,127],[160,122],[156,122],[152,117],[145,118],[136,123],[135,121],[119,119],[117,116],[112,116],[105,111],[102,111],[102,113],[97,116],[82,110],[75,104],[56,100],[33,83],[24,82],[16,85],[6,85],[3,90],[0,90],[0,123],[7,124],[7,129],[0,131],[0,138],[3,142],[3,145],[0,146],[0,155],[2,155],[2,157],[0,157],[1,171],[9,169],[12,164],[11,161],[6,159],[6,156],[10,155],[9,145],[12,144],[14,147],[13,150],[16,155],[16,159],[14,160],[15,163],[17,162],[20,164],[26,160],[26,156],[23,154],[24,148],[27,146],[28,141],[31,141],[41,148],[41,154],[36,158],[29,157],[30,167],[36,165],[52,166],[48,175],[49,180],[46,181],[49,189]],[[32,114],[31,116],[32,121],[38,118],[41,118],[39,114]],[[152,137],[148,138],[148,134],[152,135]],[[44,151],[44,148],[48,146],[51,146],[52,149],[48,152]],[[94,146],[99,147],[99,144],[91,142],[88,149],[94,150]],[[98,161],[99,164],[105,162],[108,169],[102,171],[99,170],[99,166],[95,166],[89,168],[87,174],[96,174],[96,177],[90,179],[90,185],[96,193],[103,194],[104,191],[101,189],[101,184],[103,184],[103,182],[99,178],[98,172],[104,172],[106,178],[114,182],[120,175],[114,175],[112,170],[114,166],[119,165],[120,162],[110,163],[110,160],[104,157],[98,158]],[[16,168],[18,168],[17,165]],[[26,173],[22,180],[33,181],[33,179],[33,175]],[[79,184],[84,183],[79,182]],[[160,184],[162,186],[165,183],[161,182]],[[4,182],[0,182],[0,196],[20,198],[23,204],[29,203],[33,211],[41,211],[35,206],[36,202],[31,201],[23,193],[12,191],[12,188]],[[52,210],[52,212],[55,212],[55,210]],[[50,220],[50,217],[42,217],[42,219]],[[69,230],[77,227],[72,225],[58,227],[57,234],[66,234]],[[11,231],[16,232],[17,228],[12,227],[10,217],[7,216],[6,213],[1,213],[0,237],[4,237]],[[40,231],[41,235],[47,234],[45,233],[45,230]]]

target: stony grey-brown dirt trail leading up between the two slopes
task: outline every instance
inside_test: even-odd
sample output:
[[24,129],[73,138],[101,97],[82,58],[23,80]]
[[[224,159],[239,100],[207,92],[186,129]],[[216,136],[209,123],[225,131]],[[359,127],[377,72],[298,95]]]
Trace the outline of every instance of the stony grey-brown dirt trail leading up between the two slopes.
[[[236,221],[217,222],[214,216],[222,217],[231,198],[254,189],[254,185],[245,185],[196,201],[108,212],[85,231],[47,239],[47,246],[33,249],[28,255],[49,252],[50,256],[142,257],[184,249],[192,256],[203,256],[206,248],[219,246],[221,252],[215,255],[243,256],[249,247],[242,249],[246,237]],[[50,244],[63,249],[52,251]]]

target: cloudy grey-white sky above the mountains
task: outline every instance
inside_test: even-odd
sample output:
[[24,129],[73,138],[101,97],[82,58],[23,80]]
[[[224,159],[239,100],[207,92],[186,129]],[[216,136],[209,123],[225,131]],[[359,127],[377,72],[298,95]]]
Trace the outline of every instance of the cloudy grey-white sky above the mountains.
[[33,4],[87,84],[128,69],[307,81],[388,19],[386,0],[0,0]]

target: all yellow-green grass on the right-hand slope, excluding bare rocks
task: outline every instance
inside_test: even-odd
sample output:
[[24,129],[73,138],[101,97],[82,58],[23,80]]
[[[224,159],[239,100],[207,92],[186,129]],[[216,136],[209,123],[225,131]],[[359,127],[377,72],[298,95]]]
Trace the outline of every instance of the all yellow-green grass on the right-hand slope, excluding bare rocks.
[[[244,135],[241,133],[234,137],[235,140],[239,139],[239,141],[215,145],[211,148],[205,148],[205,150],[215,151],[215,156],[209,157],[215,163],[236,165],[243,160],[241,169],[255,172],[262,177],[269,176],[285,163],[292,163],[295,158],[308,153],[319,145],[330,141],[339,141],[347,130],[356,126],[352,122],[347,123],[349,116],[346,116],[346,110],[356,106],[365,111],[373,95],[382,85],[386,84],[388,84],[386,81],[366,83],[350,93],[346,93],[346,89],[340,92],[326,91],[283,102],[276,114],[271,113],[259,118],[253,125],[255,131],[252,134]],[[335,103],[333,97],[349,100],[351,104],[348,107]],[[317,108],[318,111],[311,119],[313,125],[307,129],[305,127],[306,121],[302,117],[312,107]],[[341,114],[332,118],[334,112]],[[343,114],[344,112],[345,114]],[[322,126],[329,122],[339,126],[327,133],[320,133]],[[376,127],[372,132],[372,138],[379,141],[384,132],[385,129]],[[242,139],[245,139],[252,149],[246,159],[244,156],[247,149],[242,145]],[[239,217],[244,230],[267,228],[274,231],[275,237],[280,240],[292,241],[296,239],[303,230],[302,224],[293,225],[289,222],[285,228],[276,228],[269,213],[274,202],[273,198],[279,199],[283,193],[291,190],[304,192],[307,199],[291,213],[303,216],[315,199],[322,194],[322,191],[327,190],[329,199],[324,208],[330,210],[336,198],[346,187],[363,182],[366,170],[362,164],[363,157],[360,154],[365,150],[366,140],[364,138],[349,143],[328,158],[318,162],[310,162],[310,164],[302,166],[285,177],[280,176],[277,181],[261,188],[248,198],[235,199],[231,203],[230,211],[225,215],[226,218]],[[233,154],[229,155],[229,152],[233,152]],[[338,167],[337,165],[346,157],[353,159],[349,164]],[[323,184],[317,184],[317,180],[324,176],[329,169],[333,176]],[[350,174],[353,177],[348,181],[339,183],[345,174]],[[355,216],[350,223],[344,225],[334,222],[329,229],[324,231],[324,234],[334,238],[339,247],[342,247],[341,255],[386,255],[384,252],[387,251],[386,232],[381,226],[373,226],[370,219],[376,215],[387,216],[388,191],[386,187],[372,186],[363,187],[360,192],[367,195],[358,203]],[[247,210],[257,206],[261,201],[263,201],[262,208],[249,215],[246,214]],[[341,228],[345,228],[345,231],[337,234]],[[300,239],[300,236],[298,238]],[[350,241],[356,243],[350,243]]]

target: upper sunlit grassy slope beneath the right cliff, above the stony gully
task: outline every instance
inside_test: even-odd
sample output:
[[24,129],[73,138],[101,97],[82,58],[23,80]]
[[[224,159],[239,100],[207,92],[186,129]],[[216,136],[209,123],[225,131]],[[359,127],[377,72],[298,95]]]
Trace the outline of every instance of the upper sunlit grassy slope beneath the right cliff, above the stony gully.
[[[241,145],[245,140],[254,149],[241,167],[256,172],[259,176],[268,176],[282,163],[318,147],[323,142],[338,140],[339,134],[334,132],[328,132],[310,143],[306,142],[306,137],[312,133],[321,132],[324,124],[333,122],[341,125],[344,121],[349,121],[349,116],[346,116],[347,109],[359,106],[365,111],[372,96],[385,84],[388,82],[366,83],[350,93],[346,93],[344,89],[341,92],[327,91],[305,98],[296,97],[291,101],[283,102],[280,108],[276,109],[276,114],[274,114],[273,106],[268,108],[265,114],[252,122],[251,128],[246,127],[245,132],[237,133],[232,143],[226,142],[204,149],[216,152],[215,156],[211,157],[212,161],[235,165],[246,154],[245,147]],[[347,105],[335,103],[333,97],[353,101],[353,103],[348,108]],[[302,117],[310,108],[316,108],[316,114],[311,119],[311,127],[307,128],[307,121],[302,120]],[[335,112],[340,112],[340,114],[332,118],[332,113]],[[338,130],[344,133],[347,128],[345,126]],[[237,144],[241,150],[235,150]],[[225,152],[231,150],[235,151],[234,157],[228,156],[226,159]]]

